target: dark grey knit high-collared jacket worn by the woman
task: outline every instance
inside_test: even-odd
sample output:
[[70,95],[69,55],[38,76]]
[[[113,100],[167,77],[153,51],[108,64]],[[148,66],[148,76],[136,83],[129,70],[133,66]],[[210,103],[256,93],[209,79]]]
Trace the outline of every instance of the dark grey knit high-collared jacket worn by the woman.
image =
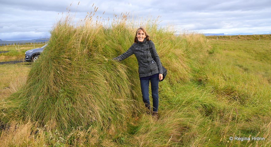
[[[153,58],[150,48],[153,51]],[[149,41],[149,47],[147,41],[134,43],[125,53],[114,60],[122,61],[132,54],[137,58],[139,77],[148,77],[157,73],[163,74],[162,64],[152,41]]]

